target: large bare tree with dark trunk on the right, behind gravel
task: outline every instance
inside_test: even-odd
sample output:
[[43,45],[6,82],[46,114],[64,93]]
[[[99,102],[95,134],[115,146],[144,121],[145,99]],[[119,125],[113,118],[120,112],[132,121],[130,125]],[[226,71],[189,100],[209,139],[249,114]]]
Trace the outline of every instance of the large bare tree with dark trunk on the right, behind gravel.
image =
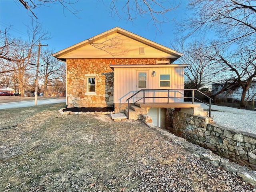
[[188,9],[194,14],[180,23],[178,32],[186,30],[183,38],[212,36],[201,57],[215,70],[211,80],[226,82],[216,94],[242,87],[240,106],[244,107],[245,93],[256,77],[256,1],[194,0]]

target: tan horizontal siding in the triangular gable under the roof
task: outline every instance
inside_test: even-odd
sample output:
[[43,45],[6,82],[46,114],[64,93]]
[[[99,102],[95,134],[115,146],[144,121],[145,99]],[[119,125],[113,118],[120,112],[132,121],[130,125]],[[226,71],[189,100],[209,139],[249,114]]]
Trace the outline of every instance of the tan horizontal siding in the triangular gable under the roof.
[[[139,54],[139,48],[145,54]],[[170,54],[115,33],[61,56],[61,58],[170,58]]]

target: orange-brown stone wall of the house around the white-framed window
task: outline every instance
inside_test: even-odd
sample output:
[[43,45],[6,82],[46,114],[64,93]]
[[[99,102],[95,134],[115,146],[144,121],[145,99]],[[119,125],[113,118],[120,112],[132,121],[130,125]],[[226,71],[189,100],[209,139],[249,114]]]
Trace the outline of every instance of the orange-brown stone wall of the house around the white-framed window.
[[[160,58],[94,58],[66,59],[67,97],[70,107],[112,107],[114,106],[114,74],[110,65],[156,64]],[[95,75],[95,94],[86,93],[85,75]]]

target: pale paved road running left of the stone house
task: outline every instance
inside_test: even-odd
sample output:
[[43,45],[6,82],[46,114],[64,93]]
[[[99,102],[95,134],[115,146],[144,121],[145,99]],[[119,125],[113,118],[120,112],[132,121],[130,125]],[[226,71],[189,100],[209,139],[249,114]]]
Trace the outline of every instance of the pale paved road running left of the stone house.
[[[66,99],[46,99],[46,100],[38,100],[37,104],[51,104],[51,103],[62,103],[66,102]],[[34,106],[35,101],[20,101],[20,102],[10,102],[10,103],[2,103],[0,104],[0,110],[1,109],[9,109],[9,108],[18,108],[18,107],[29,107]]]

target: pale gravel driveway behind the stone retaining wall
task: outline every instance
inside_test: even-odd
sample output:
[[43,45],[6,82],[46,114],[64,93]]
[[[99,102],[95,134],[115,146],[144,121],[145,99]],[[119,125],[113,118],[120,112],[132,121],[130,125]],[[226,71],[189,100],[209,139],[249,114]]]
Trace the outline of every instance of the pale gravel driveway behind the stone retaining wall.
[[[201,107],[209,109],[204,104]],[[256,134],[256,111],[212,105],[212,118],[221,126]]]

